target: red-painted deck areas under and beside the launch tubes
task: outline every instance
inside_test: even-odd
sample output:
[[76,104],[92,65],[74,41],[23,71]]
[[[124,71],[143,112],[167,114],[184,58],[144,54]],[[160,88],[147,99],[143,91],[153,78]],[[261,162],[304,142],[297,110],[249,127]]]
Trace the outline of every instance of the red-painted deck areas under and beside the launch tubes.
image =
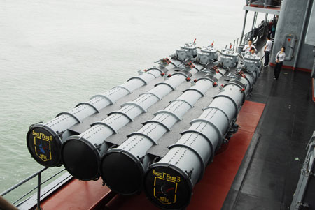
[[[228,147],[219,153],[194,189],[188,209],[221,209],[230,186],[237,174],[265,104],[246,101],[239,113],[239,131]],[[44,200],[43,209],[158,209],[144,193],[136,196],[113,195],[99,181],[73,179]],[[113,197],[113,199],[112,199]]]

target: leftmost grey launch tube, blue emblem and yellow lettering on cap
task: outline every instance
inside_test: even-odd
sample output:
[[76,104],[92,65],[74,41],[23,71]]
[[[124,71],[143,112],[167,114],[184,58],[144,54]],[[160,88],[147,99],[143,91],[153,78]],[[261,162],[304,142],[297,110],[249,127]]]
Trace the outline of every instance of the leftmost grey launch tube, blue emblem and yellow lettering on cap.
[[[172,62],[170,62],[172,63]],[[176,61],[174,61],[176,63]],[[132,93],[135,89],[148,84],[155,78],[161,76],[176,64],[169,66],[160,66],[151,68],[146,73],[137,77],[131,77],[124,84],[113,87],[104,94],[93,96],[85,103],[79,103],[73,110],[69,112],[61,112],[57,114],[55,119],[44,124],[35,124],[29,128],[27,133],[27,148],[31,156],[41,165],[45,167],[53,167],[61,165],[60,148],[70,133],[67,129],[71,126],[81,123],[83,119],[99,112],[104,107],[116,103],[116,101],[124,96]]]

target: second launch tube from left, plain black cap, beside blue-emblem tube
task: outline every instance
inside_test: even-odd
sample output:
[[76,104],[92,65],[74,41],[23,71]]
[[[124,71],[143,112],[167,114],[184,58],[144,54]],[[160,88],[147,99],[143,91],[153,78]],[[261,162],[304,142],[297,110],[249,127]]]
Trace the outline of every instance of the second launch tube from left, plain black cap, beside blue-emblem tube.
[[[190,70],[191,74],[197,73],[196,69]],[[133,121],[140,114],[146,112],[168,93],[174,91],[188,75],[174,73],[169,80],[155,84],[155,88],[142,93],[139,98],[125,103],[118,111],[109,113],[106,119],[95,122],[92,127],[78,136],[70,136],[62,146],[62,162],[64,167],[73,177],[80,180],[92,180],[99,178],[99,162],[109,144],[104,143],[120,128]]]

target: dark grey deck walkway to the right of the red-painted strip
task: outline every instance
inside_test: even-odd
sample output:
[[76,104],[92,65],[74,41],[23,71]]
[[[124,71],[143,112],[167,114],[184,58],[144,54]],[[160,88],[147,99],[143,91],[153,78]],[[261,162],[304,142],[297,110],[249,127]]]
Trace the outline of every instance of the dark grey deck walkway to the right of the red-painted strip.
[[315,130],[311,77],[286,69],[279,80],[272,76],[273,68],[264,68],[249,99],[265,110],[223,209],[287,209],[293,199]]

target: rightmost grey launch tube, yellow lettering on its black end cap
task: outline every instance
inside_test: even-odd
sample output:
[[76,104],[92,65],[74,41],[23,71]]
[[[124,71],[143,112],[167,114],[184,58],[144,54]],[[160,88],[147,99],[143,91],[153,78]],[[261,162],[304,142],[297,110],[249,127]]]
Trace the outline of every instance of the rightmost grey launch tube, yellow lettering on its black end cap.
[[255,78],[251,75],[240,73],[241,77],[225,84],[200,117],[181,133],[179,141],[169,146],[169,152],[150,166],[144,184],[146,195],[155,205],[162,209],[187,207],[193,187],[221,147],[225,133],[244,103],[244,96],[253,86]]

